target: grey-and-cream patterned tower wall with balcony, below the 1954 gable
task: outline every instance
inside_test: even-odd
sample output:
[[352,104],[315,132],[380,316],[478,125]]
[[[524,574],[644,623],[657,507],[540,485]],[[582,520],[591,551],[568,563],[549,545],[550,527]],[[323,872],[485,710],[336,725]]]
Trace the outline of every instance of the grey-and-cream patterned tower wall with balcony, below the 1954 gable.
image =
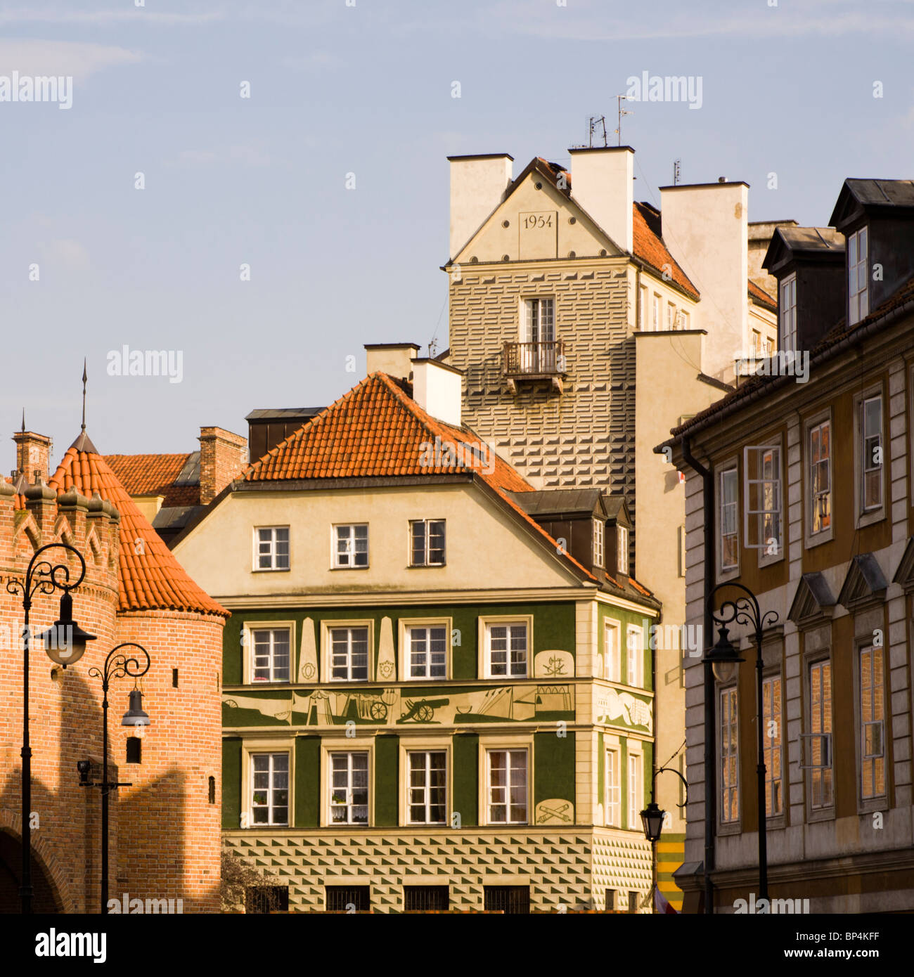
[[[634,493],[634,343],[628,270],[607,258],[475,272],[450,286],[449,362],[466,371],[463,417],[543,488],[608,486]],[[555,268],[552,263],[551,268]],[[555,338],[565,344],[561,394],[546,382],[511,394],[504,342],[520,340],[524,299],[552,296]]]

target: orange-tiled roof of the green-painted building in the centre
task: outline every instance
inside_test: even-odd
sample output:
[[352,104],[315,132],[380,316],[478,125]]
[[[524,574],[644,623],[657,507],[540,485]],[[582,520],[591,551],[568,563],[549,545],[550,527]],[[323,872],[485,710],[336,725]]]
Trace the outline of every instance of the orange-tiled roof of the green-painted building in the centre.
[[[386,373],[371,373],[255,461],[244,473],[244,481],[473,474],[561,553],[558,542],[506,494],[532,491],[533,487],[498,455],[494,465],[487,464],[488,458],[468,464],[457,458],[449,464],[434,463],[452,460],[447,457],[448,445],[482,446],[482,439],[468,428],[452,427],[431,417],[413,401],[409,390],[409,384],[398,383]],[[433,454],[429,458],[433,448],[427,446],[434,446],[436,438],[441,451],[437,458]],[[423,452],[431,464],[423,464]],[[463,453],[465,459],[465,448]],[[483,470],[489,467],[494,468],[491,473]],[[562,558],[588,579],[595,579],[570,555],[562,554]]]

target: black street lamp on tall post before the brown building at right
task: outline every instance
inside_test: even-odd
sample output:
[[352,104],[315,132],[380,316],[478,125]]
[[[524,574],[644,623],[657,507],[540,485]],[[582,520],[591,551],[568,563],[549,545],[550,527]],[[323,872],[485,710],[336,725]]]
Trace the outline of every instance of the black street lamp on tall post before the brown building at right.
[[[718,590],[725,587],[733,587],[742,590],[745,597],[737,597],[735,600],[724,601],[715,614],[713,610],[713,600]],[[767,821],[765,818],[765,798],[764,798],[764,702],[762,700],[762,675],[764,670],[764,660],[762,658],[762,634],[765,627],[777,623],[778,615],[775,611],[768,611],[762,616],[762,609],[759,607],[759,600],[756,595],[742,583],[735,580],[728,580],[718,585],[708,595],[708,608],[711,610],[711,618],[718,624],[720,633],[718,642],[705,653],[703,661],[706,668],[711,668],[718,682],[729,682],[736,674],[737,665],[745,658],[739,657],[739,652],[730,641],[726,625],[731,621],[737,624],[748,624],[753,631],[756,642],[756,726],[759,732],[758,761],[756,772],[758,775],[758,810],[759,810],[759,897],[768,898],[768,856],[767,856]],[[705,737],[714,736],[714,728],[709,729],[709,715],[711,723],[714,722],[714,708],[705,711]],[[706,798],[705,803],[708,802]]]

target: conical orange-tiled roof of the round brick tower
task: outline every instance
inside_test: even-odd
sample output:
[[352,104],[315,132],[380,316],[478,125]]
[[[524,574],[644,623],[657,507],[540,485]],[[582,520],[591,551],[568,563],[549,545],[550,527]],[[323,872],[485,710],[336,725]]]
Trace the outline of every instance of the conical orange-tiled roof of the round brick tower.
[[[178,563],[101,455],[70,446],[48,485],[59,493],[69,488],[88,496],[98,492],[120,513],[118,611],[175,610],[229,616]],[[138,539],[143,541],[139,547],[142,553],[136,552]]]

